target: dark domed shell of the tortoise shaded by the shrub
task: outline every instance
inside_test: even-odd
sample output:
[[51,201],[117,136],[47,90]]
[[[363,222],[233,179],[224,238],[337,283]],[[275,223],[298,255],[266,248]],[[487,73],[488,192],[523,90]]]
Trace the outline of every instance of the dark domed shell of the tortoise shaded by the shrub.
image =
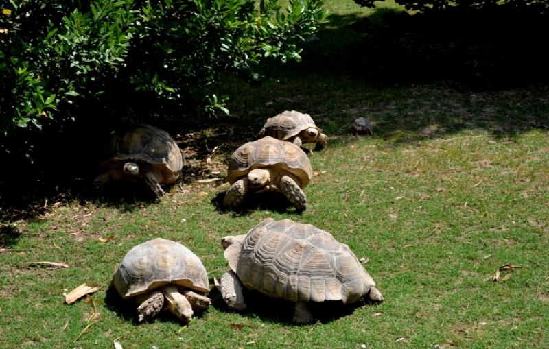
[[165,178],[172,178],[176,174],[172,182],[178,178],[185,163],[170,134],[151,125],[139,125],[115,134],[110,139],[109,150],[111,156],[107,165],[126,160],[133,160],[138,165],[150,164],[161,169]]

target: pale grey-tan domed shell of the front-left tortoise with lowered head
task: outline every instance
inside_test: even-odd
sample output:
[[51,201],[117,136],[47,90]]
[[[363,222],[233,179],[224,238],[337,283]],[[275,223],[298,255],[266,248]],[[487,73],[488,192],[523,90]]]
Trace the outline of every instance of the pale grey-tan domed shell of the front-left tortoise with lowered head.
[[209,291],[206,269],[196,254],[180,243],[160,238],[132,248],[113,275],[113,283],[124,299],[167,284]]

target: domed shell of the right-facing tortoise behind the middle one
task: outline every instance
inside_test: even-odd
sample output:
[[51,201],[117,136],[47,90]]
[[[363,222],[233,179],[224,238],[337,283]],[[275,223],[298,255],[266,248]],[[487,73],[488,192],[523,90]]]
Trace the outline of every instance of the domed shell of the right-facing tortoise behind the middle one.
[[322,133],[321,128],[317,128],[313,119],[308,114],[286,110],[276,117],[267,119],[267,122],[259,132],[259,138],[271,136],[283,141],[292,138],[307,128],[316,128],[318,134]]

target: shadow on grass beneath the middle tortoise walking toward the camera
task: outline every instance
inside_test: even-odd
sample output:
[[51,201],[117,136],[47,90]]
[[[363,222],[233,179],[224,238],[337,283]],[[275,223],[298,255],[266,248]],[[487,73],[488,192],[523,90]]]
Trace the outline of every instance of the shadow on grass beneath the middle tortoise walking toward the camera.
[[[215,210],[220,212],[229,212],[223,206],[223,198],[226,191],[218,193],[212,200],[211,204],[215,206]],[[256,210],[270,210],[277,213],[287,213],[289,215],[299,215],[293,209],[293,205],[282,193],[248,193],[244,201],[236,210],[233,210],[233,216],[251,215]]]

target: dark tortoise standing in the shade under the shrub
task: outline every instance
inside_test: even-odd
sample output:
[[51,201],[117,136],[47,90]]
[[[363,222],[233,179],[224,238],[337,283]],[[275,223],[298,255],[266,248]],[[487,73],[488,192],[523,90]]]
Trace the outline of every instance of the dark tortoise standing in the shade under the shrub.
[[107,171],[95,178],[95,189],[103,190],[111,180],[144,182],[154,202],[164,195],[161,185],[175,182],[185,163],[176,141],[151,125],[115,134],[109,149],[110,159],[100,164]]

